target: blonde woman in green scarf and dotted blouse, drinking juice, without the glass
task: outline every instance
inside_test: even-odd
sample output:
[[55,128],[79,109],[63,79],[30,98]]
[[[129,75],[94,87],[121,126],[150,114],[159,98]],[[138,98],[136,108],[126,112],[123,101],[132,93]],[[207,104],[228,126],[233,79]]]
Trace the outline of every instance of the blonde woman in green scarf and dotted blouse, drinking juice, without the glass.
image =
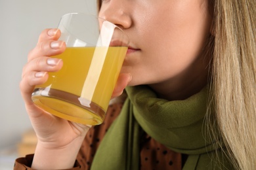
[[[43,112],[31,100],[47,72],[62,67],[49,56],[66,47],[57,41],[58,29],[43,31],[20,82],[37,148],[33,161],[19,158],[15,168],[255,169],[255,3],[100,1],[98,15],[131,40],[113,93],[117,97],[127,86],[128,97],[91,129]],[[154,148],[150,163],[147,147]],[[172,161],[160,163],[165,157],[158,149]]]

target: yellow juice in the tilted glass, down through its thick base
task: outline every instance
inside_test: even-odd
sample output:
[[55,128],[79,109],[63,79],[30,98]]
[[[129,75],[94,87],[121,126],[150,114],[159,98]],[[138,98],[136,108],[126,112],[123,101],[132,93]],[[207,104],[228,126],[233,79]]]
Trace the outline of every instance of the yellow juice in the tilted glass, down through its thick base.
[[127,47],[68,47],[54,56],[63,67],[35,86],[33,102],[60,118],[101,124],[125,58]]

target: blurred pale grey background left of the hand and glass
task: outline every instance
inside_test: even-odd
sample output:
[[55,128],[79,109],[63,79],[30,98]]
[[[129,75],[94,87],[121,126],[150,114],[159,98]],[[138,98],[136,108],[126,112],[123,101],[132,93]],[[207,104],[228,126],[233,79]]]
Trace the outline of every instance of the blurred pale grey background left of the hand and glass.
[[68,12],[96,13],[96,0],[0,0],[0,170],[12,169],[18,144],[31,129],[19,82],[43,29]]

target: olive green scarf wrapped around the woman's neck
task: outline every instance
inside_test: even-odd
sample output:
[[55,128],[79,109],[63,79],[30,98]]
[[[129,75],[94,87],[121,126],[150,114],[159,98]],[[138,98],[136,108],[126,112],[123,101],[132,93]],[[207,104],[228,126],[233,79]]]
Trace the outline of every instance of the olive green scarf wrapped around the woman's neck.
[[127,87],[126,92],[128,98],[102,139],[91,169],[139,169],[143,131],[171,150],[188,154],[183,169],[232,169],[205,135],[207,88],[182,101],[158,99],[148,86]]

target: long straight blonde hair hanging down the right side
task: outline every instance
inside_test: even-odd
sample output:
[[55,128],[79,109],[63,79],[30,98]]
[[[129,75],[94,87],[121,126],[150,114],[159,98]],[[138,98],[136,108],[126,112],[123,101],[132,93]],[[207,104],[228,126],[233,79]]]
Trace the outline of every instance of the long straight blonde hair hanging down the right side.
[[[211,101],[236,169],[256,168],[255,0],[213,1]],[[211,124],[211,128],[214,124]],[[219,137],[215,135],[215,139]]]

